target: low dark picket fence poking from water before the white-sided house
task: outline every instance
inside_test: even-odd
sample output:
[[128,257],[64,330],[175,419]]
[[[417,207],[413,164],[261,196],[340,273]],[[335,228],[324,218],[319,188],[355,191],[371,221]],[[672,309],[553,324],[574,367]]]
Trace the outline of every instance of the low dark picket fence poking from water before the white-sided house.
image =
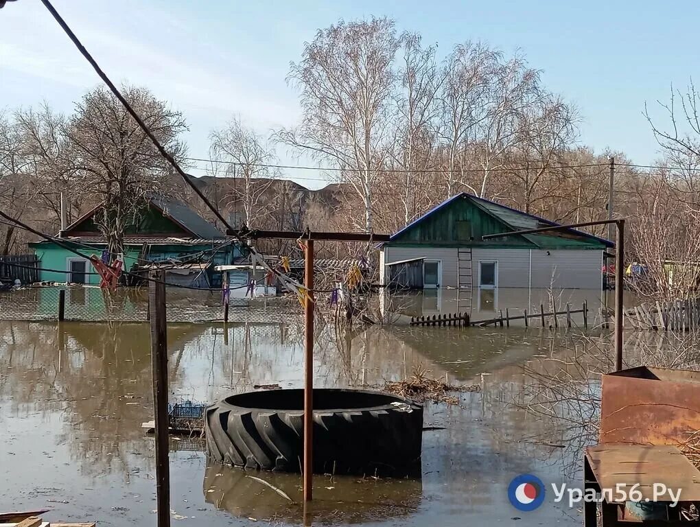
[[562,311],[556,311],[556,307],[552,306],[552,311],[547,313],[545,312],[544,305],[540,304],[539,313],[528,313],[527,309],[522,309],[521,312],[521,315],[511,316],[510,310],[506,308],[504,316],[503,310],[501,309],[500,316],[496,318],[487,318],[485,320],[480,321],[470,320],[469,315],[466,313],[442,314],[437,316],[433,315],[432,318],[430,318],[430,316],[413,316],[411,317],[411,322],[409,323],[409,325],[438,325],[457,327],[467,327],[470,325],[477,325],[480,327],[486,325],[500,325],[500,327],[503,328],[504,325],[510,326],[511,321],[524,321],[525,327],[528,327],[532,325],[533,319],[537,319],[535,325],[538,325],[539,322],[541,323],[542,328],[559,328],[559,317],[562,317],[562,327],[566,324],[566,327],[570,328],[573,324],[571,315],[582,314],[583,327],[584,329],[588,328],[588,304],[586,302],[583,303],[581,309],[571,309],[570,304],[566,304],[566,309],[563,309]]

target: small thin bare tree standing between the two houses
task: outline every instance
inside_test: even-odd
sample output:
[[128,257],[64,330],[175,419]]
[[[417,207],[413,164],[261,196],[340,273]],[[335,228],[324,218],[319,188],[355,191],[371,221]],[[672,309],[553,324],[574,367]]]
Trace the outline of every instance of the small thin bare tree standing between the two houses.
[[216,160],[228,162],[226,174],[234,178],[225,197],[228,206],[236,210],[241,203],[246,226],[258,227],[266,213],[263,203],[273,181],[272,168],[267,165],[274,162],[274,151],[239,118],[232,118],[225,128],[212,132],[210,151]]

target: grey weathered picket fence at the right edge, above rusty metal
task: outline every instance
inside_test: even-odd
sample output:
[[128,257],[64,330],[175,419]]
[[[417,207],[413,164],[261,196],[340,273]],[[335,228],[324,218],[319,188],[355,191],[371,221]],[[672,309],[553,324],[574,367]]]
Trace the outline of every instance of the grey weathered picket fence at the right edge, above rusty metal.
[[624,316],[640,330],[692,331],[700,328],[700,298],[640,304]]

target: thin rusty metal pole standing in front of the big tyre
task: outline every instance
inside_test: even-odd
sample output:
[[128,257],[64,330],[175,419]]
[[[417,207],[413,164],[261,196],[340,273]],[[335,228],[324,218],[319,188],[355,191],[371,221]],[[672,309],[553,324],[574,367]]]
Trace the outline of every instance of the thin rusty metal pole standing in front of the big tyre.
[[304,260],[304,502],[314,496],[314,240],[307,240]]

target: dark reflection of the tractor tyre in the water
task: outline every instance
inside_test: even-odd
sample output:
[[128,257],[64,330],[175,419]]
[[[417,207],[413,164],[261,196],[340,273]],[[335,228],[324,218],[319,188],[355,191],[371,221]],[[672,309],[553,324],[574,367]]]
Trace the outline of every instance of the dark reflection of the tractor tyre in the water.
[[[420,479],[318,476],[314,502],[307,515],[314,524],[324,525],[402,519],[419,509],[421,494]],[[208,463],[204,472],[204,498],[235,517],[292,524],[304,521],[298,475],[251,472]]]

